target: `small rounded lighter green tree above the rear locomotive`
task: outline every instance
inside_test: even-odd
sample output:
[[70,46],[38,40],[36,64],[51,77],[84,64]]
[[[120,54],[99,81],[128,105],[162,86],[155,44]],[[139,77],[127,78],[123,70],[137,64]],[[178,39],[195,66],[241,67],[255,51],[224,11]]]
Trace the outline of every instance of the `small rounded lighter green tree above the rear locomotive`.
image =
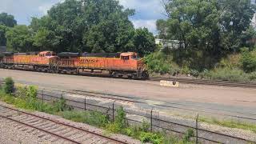
[[32,31],[25,25],[18,25],[6,32],[7,48],[14,52],[33,51]]

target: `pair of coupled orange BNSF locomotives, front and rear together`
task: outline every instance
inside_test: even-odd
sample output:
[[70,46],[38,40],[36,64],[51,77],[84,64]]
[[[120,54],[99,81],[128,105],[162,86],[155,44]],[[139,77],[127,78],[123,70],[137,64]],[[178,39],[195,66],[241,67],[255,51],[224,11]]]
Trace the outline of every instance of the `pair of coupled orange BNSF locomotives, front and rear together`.
[[129,53],[40,53],[0,54],[0,66],[7,69],[36,70],[50,73],[79,74],[108,71],[113,77],[148,78],[146,65],[138,54]]

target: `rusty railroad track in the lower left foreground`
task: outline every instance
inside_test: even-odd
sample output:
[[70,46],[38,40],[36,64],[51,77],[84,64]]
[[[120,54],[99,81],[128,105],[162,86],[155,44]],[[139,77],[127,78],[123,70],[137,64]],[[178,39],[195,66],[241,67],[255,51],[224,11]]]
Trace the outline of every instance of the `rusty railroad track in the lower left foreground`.
[[[58,122],[50,118],[26,113],[7,106],[0,105],[0,118],[16,123],[16,127],[24,128],[28,133],[38,134],[40,138],[50,138],[51,142],[65,143],[127,143],[118,139],[109,138],[101,134],[84,130],[81,127]],[[30,128],[28,128],[30,127]]]

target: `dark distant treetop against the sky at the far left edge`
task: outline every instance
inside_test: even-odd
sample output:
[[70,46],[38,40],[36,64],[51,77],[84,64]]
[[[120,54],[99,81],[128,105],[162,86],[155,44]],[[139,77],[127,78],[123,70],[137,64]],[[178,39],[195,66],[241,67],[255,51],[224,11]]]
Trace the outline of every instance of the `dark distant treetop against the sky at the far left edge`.
[[7,13],[0,14],[0,25],[14,27],[17,25],[17,21],[14,19],[13,15]]

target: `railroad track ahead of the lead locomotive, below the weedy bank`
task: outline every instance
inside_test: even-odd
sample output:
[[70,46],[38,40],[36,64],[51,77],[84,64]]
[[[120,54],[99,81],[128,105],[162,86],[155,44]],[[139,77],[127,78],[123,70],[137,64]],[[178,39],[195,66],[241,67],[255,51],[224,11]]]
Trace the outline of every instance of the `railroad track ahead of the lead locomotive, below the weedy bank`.
[[229,81],[210,81],[205,79],[192,79],[192,78],[150,78],[150,81],[176,81],[180,83],[187,84],[197,84],[197,85],[209,85],[209,86],[232,86],[232,87],[247,87],[256,88],[256,83],[252,82],[229,82]]

